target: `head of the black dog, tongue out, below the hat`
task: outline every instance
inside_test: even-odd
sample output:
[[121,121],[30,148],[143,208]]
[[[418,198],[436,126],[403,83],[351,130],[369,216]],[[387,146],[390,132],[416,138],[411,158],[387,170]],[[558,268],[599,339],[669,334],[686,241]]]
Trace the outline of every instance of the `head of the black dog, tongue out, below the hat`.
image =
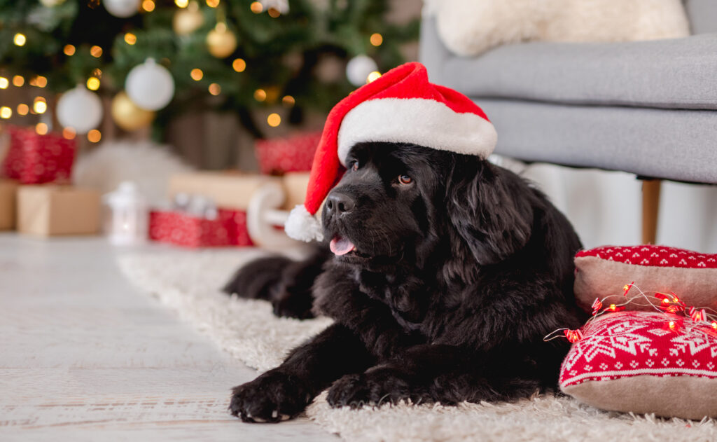
[[533,211],[510,172],[477,156],[361,143],[323,207],[325,238],[346,263],[425,263],[436,253],[488,265],[530,238]]

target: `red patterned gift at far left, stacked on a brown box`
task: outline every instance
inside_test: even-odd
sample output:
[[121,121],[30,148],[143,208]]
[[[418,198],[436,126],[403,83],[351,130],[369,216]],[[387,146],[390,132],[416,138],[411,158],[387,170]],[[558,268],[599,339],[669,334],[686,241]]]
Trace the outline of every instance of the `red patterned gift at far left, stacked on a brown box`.
[[62,182],[70,178],[75,140],[58,133],[38,135],[34,128],[8,126],[10,146],[2,164],[6,177],[22,184]]

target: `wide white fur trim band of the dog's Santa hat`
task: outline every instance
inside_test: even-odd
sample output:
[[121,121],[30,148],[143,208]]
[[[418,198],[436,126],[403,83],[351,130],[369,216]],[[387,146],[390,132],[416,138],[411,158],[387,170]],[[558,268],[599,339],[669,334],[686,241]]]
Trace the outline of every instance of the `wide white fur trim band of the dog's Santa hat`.
[[351,109],[338,130],[338,159],[361,141],[413,143],[457,154],[488,158],[498,134],[493,123],[475,113],[457,113],[426,98],[378,98]]

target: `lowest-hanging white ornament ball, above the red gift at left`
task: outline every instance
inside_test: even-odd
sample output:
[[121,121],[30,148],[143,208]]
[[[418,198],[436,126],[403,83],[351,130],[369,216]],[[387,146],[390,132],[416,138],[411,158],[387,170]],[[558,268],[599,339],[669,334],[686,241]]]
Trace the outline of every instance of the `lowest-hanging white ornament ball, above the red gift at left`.
[[57,101],[57,120],[76,133],[87,133],[102,121],[102,100],[85,86],[77,86],[62,94]]

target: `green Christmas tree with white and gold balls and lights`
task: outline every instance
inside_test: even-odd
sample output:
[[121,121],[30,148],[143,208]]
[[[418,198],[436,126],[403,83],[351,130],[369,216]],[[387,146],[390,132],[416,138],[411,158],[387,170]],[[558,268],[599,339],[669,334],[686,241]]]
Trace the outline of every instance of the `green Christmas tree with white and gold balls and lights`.
[[[161,136],[179,114],[211,109],[262,137],[281,118],[255,110],[283,105],[288,123],[300,123],[306,109],[328,111],[402,62],[418,23],[388,24],[386,9],[382,0],[0,0],[0,88],[27,81],[65,93],[57,116],[77,133],[96,126],[99,94],[113,97],[128,130],[154,121]],[[322,68],[346,62],[348,77]],[[0,117],[48,104],[0,103]]]

